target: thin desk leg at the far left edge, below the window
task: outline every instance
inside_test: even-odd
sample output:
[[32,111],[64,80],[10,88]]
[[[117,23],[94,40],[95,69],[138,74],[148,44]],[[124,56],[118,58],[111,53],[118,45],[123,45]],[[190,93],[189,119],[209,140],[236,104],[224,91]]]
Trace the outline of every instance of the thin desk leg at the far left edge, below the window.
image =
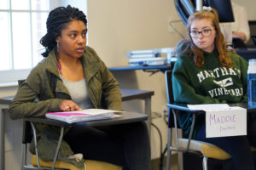
[[6,105],[0,105],[0,170],[4,170],[4,113],[3,109],[6,109]]

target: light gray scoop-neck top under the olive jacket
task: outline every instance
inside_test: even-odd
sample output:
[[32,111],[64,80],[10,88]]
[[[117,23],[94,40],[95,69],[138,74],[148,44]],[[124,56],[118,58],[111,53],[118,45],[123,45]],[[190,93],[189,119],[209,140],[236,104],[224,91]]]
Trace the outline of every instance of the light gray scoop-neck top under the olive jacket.
[[86,88],[85,79],[79,80],[78,82],[71,82],[61,76],[64,85],[73,99],[73,102],[79,105],[81,109],[93,108],[90,102],[89,94]]

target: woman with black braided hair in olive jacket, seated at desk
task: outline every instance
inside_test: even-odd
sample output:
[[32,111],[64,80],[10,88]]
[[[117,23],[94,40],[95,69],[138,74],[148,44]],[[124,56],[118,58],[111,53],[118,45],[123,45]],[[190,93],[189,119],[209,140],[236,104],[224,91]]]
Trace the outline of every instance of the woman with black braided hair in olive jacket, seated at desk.
[[[44,58],[32,69],[9,106],[13,119],[45,116],[52,111],[78,111],[101,108],[102,96],[110,110],[122,111],[119,84],[95,50],[86,46],[85,14],[71,6],[49,13],[47,33],[41,39]],[[59,128],[37,124],[38,154],[44,161],[57,144]],[[108,127],[66,129],[58,159],[71,161],[73,153],[85,159],[107,161],[128,170],[150,169],[150,145],[145,122]],[[33,145],[31,151],[34,152]]]

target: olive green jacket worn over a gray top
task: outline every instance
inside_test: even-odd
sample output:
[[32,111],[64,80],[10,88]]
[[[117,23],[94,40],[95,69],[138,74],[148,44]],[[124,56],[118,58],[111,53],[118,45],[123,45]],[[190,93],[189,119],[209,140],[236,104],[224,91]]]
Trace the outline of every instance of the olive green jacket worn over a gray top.
[[[108,109],[122,111],[119,84],[94,49],[86,47],[80,59],[92,105],[95,108],[101,108],[103,95]],[[46,59],[32,69],[26,82],[21,84],[14,100],[9,105],[9,116],[12,119],[45,116],[47,112],[60,111],[60,105],[65,99],[71,99],[71,96],[61,81],[55,50],[52,50]],[[55,150],[53,149],[55,144],[51,144],[55,142],[51,139],[57,139],[59,128],[40,124],[37,125],[37,130],[39,156],[44,161],[52,160],[53,156],[49,156],[49,153]],[[61,154],[62,157],[73,154],[65,141],[61,144],[58,159]]]

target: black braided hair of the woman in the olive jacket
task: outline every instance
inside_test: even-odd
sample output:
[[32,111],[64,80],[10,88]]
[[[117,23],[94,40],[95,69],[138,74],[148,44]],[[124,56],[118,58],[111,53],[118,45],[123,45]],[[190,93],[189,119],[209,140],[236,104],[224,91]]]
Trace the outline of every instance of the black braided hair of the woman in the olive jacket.
[[46,21],[47,33],[40,40],[45,48],[45,52],[42,54],[44,57],[47,57],[49,51],[56,47],[55,39],[61,36],[62,29],[73,20],[81,20],[87,26],[86,15],[79,8],[67,5],[67,8],[58,7],[50,11]]

